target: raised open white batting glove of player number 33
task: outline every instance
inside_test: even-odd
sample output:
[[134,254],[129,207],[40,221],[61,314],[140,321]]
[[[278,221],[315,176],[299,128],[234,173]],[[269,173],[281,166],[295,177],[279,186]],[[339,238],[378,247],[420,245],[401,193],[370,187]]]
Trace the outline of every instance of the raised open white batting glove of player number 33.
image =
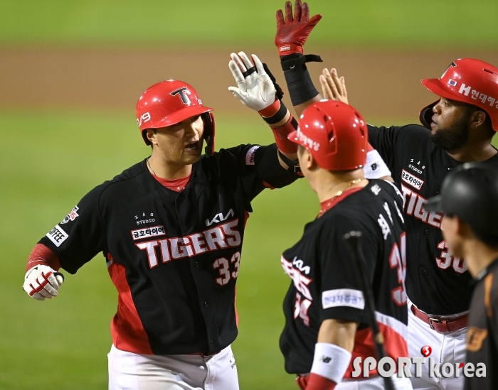
[[[256,111],[261,111],[275,102],[275,87],[260,59],[253,54],[255,64],[253,65],[243,51],[238,55],[232,53],[230,57],[232,60],[228,63],[228,67],[237,82],[237,87],[228,87],[233,96]],[[248,70],[250,74],[244,77],[243,72]]]

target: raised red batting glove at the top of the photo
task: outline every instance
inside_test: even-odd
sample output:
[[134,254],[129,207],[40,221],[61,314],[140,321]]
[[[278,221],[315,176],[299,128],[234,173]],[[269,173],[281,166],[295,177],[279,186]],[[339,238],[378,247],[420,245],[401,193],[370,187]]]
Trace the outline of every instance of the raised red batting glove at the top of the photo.
[[302,45],[321,18],[322,15],[318,14],[310,19],[308,4],[301,4],[301,0],[296,0],[294,17],[292,17],[292,4],[287,1],[285,3],[285,20],[282,10],[277,11],[275,45],[278,48],[278,53],[280,55],[302,53]]

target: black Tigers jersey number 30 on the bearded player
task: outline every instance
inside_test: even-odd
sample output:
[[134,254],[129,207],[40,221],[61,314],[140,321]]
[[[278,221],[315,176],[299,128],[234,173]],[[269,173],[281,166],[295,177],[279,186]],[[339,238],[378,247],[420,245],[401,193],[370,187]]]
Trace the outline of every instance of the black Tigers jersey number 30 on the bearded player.
[[[465,312],[472,296],[467,264],[452,255],[443,238],[443,215],[427,212],[423,206],[429,197],[438,195],[447,173],[461,163],[430,141],[430,130],[415,124],[369,126],[369,141],[405,197],[408,298],[429,314]],[[498,168],[498,155],[483,163]]]

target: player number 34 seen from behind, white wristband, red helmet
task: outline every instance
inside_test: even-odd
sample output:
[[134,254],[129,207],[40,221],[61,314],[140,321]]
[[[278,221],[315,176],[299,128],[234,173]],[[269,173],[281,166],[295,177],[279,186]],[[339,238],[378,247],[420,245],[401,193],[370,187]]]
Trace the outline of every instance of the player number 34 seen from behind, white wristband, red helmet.
[[[332,100],[311,104],[289,139],[300,145],[300,167],[321,210],[297,244],[282,254],[292,278],[284,301],[280,349],[285,370],[306,390],[383,389],[365,300],[342,237],[360,230],[388,357],[408,357],[404,286],[406,239],[403,195],[388,180],[366,180],[368,129],[353,107]],[[354,375],[354,362],[361,375]],[[410,380],[393,377],[396,389]]]

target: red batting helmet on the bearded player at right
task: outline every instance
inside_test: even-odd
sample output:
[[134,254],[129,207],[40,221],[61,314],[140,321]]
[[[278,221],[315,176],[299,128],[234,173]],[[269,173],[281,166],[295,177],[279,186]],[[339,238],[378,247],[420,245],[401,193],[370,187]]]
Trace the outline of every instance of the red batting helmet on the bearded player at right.
[[[439,79],[420,80],[422,84],[441,97],[473,104],[486,112],[498,131],[498,69],[484,61],[460,58],[451,63]],[[433,107],[429,104],[420,112],[420,122],[430,129]]]

